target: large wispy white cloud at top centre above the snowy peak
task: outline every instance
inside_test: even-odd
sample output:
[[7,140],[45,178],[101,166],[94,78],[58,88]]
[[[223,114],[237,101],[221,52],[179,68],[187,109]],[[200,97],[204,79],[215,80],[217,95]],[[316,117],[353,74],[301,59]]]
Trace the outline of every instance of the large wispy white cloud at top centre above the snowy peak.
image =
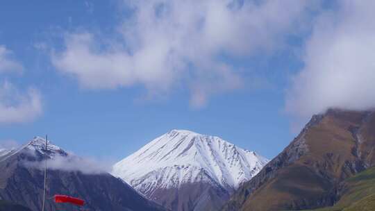
[[221,56],[272,52],[285,34],[294,33],[308,7],[308,1],[288,0],[124,4],[133,15],[118,26],[119,39],[108,42],[93,33],[68,33],[66,49],[52,55],[53,65],[90,89],[144,85],[158,93],[189,87],[196,106],[242,82]]

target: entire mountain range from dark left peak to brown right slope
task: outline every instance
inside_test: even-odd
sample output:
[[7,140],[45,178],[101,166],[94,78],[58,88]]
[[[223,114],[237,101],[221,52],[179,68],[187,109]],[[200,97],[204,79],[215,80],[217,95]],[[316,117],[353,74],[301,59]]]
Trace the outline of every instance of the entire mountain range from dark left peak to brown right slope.
[[88,210],[375,210],[375,112],[314,115],[271,161],[219,137],[171,130],[109,173],[40,137],[0,149],[0,210],[40,210],[44,160],[53,194]]

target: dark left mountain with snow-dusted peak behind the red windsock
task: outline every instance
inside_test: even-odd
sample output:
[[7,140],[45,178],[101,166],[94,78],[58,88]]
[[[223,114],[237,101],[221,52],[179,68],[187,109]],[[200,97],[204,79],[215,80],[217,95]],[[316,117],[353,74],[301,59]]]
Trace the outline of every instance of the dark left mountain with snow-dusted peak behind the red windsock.
[[0,157],[0,171],[3,172],[0,174],[0,199],[25,205],[31,210],[41,210],[44,172],[40,164],[49,159],[49,163],[55,166],[48,171],[47,210],[77,210],[72,205],[53,203],[51,196],[54,194],[81,197],[89,210],[164,210],[108,173],[58,170],[57,158],[62,168],[84,162],[51,143],[46,151],[44,143],[45,140],[37,137]]

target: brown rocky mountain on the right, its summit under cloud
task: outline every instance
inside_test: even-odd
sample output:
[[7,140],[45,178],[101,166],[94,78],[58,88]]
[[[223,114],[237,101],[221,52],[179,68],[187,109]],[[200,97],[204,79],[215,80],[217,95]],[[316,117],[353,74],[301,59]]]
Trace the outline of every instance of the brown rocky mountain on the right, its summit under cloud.
[[328,110],[222,210],[303,210],[333,205],[340,184],[375,164],[375,113]]

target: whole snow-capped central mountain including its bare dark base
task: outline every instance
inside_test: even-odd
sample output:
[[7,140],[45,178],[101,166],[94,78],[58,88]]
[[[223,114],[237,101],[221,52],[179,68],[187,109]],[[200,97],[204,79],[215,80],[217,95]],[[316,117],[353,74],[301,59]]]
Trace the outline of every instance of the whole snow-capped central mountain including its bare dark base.
[[172,210],[218,210],[267,162],[219,137],[172,130],[115,164],[113,175]]

